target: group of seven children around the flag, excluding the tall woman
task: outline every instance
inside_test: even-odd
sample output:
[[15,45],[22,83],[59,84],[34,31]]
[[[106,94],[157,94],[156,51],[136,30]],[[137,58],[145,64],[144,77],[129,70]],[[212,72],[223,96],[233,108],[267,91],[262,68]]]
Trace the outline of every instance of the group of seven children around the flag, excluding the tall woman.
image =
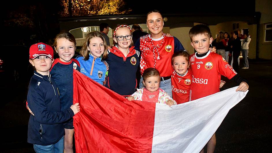
[[[221,75],[240,83],[236,91],[245,92],[249,87],[247,81],[224,58],[209,51],[213,40],[210,29],[206,25],[196,25],[191,28],[189,36],[197,52],[190,56],[186,51],[180,51],[172,56],[173,96],[170,97],[159,88],[161,79],[155,68],[144,71],[142,77],[145,87],[136,91],[136,72],[141,56],[131,46],[131,29],[127,25],[120,25],[113,36],[115,45],[107,51],[103,35],[90,32],[77,60],[72,59],[76,42],[68,32],[60,33],[55,38],[53,46],[59,59],[53,59],[53,48],[49,45],[38,43],[30,47],[29,62],[35,66],[36,72],[29,83],[27,96],[27,107],[33,114],[29,119],[28,142],[34,144],[36,152],[52,149],[73,151],[72,116],[80,111],[78,103],[72,105],[73,69],[128,100],[158,102],[169,106],[219,92],[219,87],[225,83],[221,81]],[[50,132],[46,133],[45,130]],[[208,142],[207,151],[213,152],[214,148],[215,134]]]

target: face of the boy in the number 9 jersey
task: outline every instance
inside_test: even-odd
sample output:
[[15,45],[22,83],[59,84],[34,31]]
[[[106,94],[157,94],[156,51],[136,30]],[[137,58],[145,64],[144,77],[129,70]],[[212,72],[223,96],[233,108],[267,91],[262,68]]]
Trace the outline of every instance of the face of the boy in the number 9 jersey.
[[209,38],[207,34],[198,34],[192,37],[191,45],[198,54],[206,53],[209,50],[210,43],[213,42],[213,38]]

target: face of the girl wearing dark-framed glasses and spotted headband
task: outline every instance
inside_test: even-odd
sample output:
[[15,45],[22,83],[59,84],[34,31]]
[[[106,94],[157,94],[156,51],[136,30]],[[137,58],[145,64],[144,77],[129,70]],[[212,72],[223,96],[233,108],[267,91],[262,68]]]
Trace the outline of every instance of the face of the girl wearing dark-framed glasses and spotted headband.
[[[131,40],[132,40],[132,36],[128,36],[131,35],[131,31],[128,27],[120,27],[116,30],[115,32],[115,37],[113,38],[113,40],[118,44],[118,49],[120,51],[122,50],[127,50],[131,44]],[[124,39],[123,40],[118,40],[118,36],[123,36]],[[128,36],[128,40],[126,39],[125,36]],[[130,39],[129,39],[130,38]]]

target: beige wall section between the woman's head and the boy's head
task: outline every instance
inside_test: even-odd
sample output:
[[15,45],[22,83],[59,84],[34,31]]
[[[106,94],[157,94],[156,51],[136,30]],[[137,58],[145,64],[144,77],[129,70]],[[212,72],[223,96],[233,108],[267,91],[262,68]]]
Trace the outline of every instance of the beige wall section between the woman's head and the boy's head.
[[178,38],[183,47],[191,54],[194,53],[194,48],[191,46],[191,40],[189,37],[189,31],[191,27],[180,27],[170,29],[170,34]]

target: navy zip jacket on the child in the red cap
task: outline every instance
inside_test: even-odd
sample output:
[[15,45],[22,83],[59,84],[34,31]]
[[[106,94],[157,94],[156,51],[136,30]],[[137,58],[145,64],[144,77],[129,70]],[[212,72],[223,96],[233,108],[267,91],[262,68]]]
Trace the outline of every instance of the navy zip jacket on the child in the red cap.
[[27,93],[30,115],[27,142],[37,145],[51,145],[64,136],[62,122],[74,116],[72,109],[61,111],[59,92],[50,77],[34,72]]

